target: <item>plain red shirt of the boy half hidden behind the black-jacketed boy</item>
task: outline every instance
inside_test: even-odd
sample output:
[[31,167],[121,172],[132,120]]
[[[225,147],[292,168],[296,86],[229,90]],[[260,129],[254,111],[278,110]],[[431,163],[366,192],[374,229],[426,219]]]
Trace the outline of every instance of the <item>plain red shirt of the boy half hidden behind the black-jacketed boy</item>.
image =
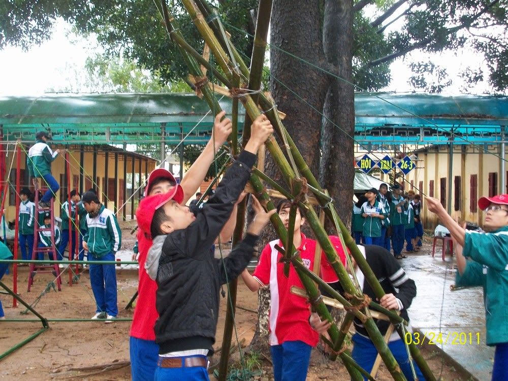
[[151,280],[145,271],[145,261],[148,250],[152,245],[151,239],[138,231],[138,249],[139,249],[139,283],[138,300],[134,308],[132,317],[131,336],[143,340],[155,341],[155,332],[153,327],[158,319],[157,309],[155,308],[155,293],[157,292],[157,282]]

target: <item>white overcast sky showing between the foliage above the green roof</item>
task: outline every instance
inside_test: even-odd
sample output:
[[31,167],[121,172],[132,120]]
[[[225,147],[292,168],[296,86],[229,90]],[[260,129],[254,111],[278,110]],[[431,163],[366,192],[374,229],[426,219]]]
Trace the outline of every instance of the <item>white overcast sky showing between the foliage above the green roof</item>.
[[[0,50],[0,94],[40,95],[51,88],[61,89],[66,88],[69,83],[81,83],[86,58],[101,51],[101,48],[93,39],[85,40],[70,33],[70,26],[66,22],[58,21],[55,26],[52,39],[41,46],[31,47],[28,51],[14,47]],[[445,52],[433,55],[413,52],[392,63],[393,80],[383,91],[414,90],[408,83],[409,62],[429,58],[438,64],[446,62],[448,73],[454,82],[452,87],[445,90],[445,93],[449,94],[461,92],[459,73],[464,68],[464,62],[479,67],[483,61],[482,57],[467,50],[458,54]],[[484,82],[469,91],[481,94],[489,90],[488,84]]]

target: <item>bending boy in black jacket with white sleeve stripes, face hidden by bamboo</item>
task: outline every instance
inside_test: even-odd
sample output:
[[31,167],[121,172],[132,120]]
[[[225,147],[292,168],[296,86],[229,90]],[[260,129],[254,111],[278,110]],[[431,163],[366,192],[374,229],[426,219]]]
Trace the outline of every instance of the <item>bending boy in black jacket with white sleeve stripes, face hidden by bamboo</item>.
[[[407,276],[404,269],[400,267],[390,251],[386,250],[384,247],[377,245],[358,245],[358,248],[364,255],[367,263],[386,293],[379,300],[379,304],[387,309],[400,311],[400,316],[409,322],[407,308],[409,308],[412,299],[416,296],[415,281]],[[356,276],[363,293],[368,295],[372,300],[376,300],[376,295],[369,283],[365,281],[365,276],[362,271],[356,265],[355,268]],[[337,284],[336,287],[339,289],[338,291],[343,293],[344,291],[341,289],[340,285],[338,283],[335,284]],[[390,326],[390,322],[376,319],[374,319],[374,321],[379,332],[384,336]],[[354,347],[352,357],[358,365],[370,373],[377,357],[377,350],[370,340],[362,322],[355,319],[354,324],[356,334],[353,335]],[[411,330],[410,326],[407,327],[407,330]],[[397,331],[394,331],[392,336],[390,336],[388,347],[395,357],[395,360],[399,363],[404,376],[407,379],[414,379],[405,344]],[[425,380],[418,365],[414,363],[414,366],[418,379]]]

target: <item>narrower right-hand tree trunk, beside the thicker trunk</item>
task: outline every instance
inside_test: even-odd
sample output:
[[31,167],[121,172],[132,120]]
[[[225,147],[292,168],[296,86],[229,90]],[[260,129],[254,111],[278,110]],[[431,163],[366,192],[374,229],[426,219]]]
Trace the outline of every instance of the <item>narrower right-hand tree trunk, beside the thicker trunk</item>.
[[[339,71],[339,76],[352,81],[353,2],[326,0],[323,24],[325,57]],[[324,106],[322,131],[323,158],[320,182],[335,200],[339,216],[346,226],[351,223],[351,201],[355,178],[355,92],[353,85],[330,78]],[[337,128],[336,125],[339,126]],[[327,224],[327,231],[333,228]]]

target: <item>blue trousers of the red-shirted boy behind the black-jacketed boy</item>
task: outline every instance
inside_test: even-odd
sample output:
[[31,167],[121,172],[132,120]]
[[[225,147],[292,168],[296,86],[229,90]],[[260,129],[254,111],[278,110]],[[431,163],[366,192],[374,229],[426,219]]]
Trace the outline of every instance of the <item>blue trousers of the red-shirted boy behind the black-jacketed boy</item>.
[[133,381],[154,379],[157,368],[159,346],[155,341],[129,339],[129,353],[131,355],[131,376]]

